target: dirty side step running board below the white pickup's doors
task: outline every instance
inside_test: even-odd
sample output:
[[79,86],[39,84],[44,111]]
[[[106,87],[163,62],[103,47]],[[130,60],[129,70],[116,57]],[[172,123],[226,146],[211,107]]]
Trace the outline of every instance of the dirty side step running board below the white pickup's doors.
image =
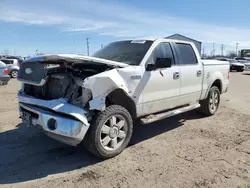
[[187,111],[190,111],[190,110],[194,110],[194,109],[199,108],[199,107],[200,107],[200,104],[198,103],[198,104],[185,106],[183,108],[178,108],[178,109],[175,109],[175,110],[171,110],[171,111],[167,111],[167,112],[163,112],[163,113],[159,113],[159,114],[151,114],[149,116],[146,116],[145,118],[142,118],[141,122],[143,124],[152,123],[152,122],[155,122],[155,121],[159,121],[161,119],[165,119],[165,118],[168,118],[168,117],[171,117],[171,116],[175,116],[177,114],[181,114],[181,113],[184,113],[184,112],[187,112]]

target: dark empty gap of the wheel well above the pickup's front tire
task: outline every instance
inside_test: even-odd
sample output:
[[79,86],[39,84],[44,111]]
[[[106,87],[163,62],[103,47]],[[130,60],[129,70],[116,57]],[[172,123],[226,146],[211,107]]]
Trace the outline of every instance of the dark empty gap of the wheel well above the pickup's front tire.
[[136,105],[134,101],[122,90],[116,89],[106,97],[106,106],[112,104],[126,108],[133,118],[136,118]]

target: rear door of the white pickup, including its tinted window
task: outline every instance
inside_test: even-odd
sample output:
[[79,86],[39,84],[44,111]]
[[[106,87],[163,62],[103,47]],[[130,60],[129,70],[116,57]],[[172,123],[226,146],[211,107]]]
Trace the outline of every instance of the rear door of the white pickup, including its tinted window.
[[180,65],[179,105],[194,104],[200,99],[202,90],[203,65],[189,43],[175,43]]

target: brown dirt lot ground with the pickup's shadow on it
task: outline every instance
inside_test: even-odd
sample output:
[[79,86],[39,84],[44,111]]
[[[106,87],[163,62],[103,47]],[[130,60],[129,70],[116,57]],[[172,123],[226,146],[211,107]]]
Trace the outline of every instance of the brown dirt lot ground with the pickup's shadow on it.
[[106,161],[20,124],[19,87],[0,87],[0,187],[250,188],[250,74],[231,74],[215,116],[136,125],[131,145]]

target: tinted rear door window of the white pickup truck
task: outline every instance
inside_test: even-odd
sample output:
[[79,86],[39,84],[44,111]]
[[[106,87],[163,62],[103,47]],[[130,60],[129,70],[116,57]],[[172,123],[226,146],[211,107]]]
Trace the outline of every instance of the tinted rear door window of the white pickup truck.
[[190,44],[176,43],[177,55],[180,65],[195,65],[197,58]]

